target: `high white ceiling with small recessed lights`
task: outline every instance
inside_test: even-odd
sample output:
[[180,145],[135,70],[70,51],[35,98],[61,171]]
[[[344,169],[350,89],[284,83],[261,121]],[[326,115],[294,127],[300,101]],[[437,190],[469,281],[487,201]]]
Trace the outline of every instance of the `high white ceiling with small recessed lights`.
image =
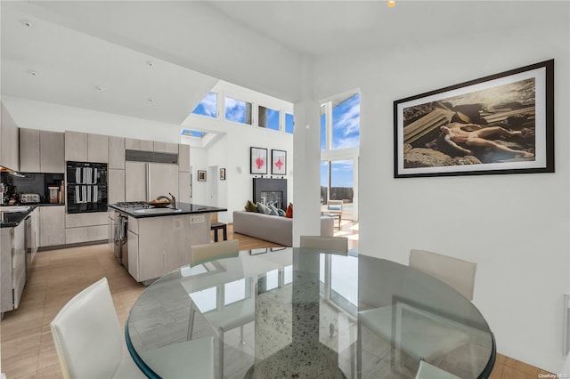
[[[1,90],[180,124],[218,79],[214,70],[188,64],[200,59],[188,38],[199,44],[217,28],[200,25],[197,13],[265,36],[291,54],[320,59],[449,34],[469,36],[481,28],[522,28],[527,20],[515,10],[540,17],[538,3],[400,1],[388,8],[385,1],[355,0],[2,1]],[[206,46],[212,57],[205,61],[216,58],[216,48]],[[232,54],[228,60],[239,58]]]

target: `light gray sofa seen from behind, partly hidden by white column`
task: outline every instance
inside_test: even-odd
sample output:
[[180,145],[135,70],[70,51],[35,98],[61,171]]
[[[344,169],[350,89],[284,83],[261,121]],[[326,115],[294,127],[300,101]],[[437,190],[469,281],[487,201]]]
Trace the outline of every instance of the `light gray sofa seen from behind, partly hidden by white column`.
[[[293,246],[293,219],[247,211],[233,211],[233,232]],[[334,219],[321,217],[321,235],[334,235]]]

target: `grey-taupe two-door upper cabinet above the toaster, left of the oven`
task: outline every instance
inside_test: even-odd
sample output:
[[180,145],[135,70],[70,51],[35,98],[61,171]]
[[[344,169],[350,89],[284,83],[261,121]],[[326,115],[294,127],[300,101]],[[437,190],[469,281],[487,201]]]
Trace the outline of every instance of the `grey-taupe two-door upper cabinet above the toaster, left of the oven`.
[[64,173],[65,134],[20,128],[20,171]]

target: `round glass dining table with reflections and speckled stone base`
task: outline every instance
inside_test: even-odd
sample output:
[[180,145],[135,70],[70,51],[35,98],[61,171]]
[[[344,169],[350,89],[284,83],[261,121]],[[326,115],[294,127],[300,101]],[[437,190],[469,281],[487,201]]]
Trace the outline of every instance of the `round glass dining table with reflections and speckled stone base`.
[[[134,302],[125,335],[142,372],[161,378],[204,379],[208,365],[216,378],[413,378],[420,367],[476,378],[495,360],[487,322],[451,286],[321,249],[255,249],[173,270]],[[205,340],[209,350],[187,350]]]

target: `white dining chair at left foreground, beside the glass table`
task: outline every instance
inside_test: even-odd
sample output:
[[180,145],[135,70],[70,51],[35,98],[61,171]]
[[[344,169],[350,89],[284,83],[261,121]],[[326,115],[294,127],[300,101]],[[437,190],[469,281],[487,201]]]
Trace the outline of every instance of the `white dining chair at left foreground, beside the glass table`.
[[75,295],[50,324],[64,378],[144,378],[130,356],[107,278]]

